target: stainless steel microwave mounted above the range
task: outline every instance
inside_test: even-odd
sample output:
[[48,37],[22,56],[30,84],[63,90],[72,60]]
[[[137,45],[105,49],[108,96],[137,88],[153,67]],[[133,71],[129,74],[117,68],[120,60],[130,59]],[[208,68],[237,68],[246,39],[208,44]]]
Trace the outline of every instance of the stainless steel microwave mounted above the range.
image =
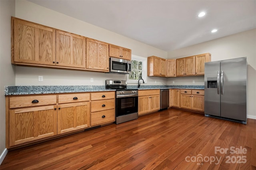
[[110,57],[110,73],[130,74],[132,61]]

